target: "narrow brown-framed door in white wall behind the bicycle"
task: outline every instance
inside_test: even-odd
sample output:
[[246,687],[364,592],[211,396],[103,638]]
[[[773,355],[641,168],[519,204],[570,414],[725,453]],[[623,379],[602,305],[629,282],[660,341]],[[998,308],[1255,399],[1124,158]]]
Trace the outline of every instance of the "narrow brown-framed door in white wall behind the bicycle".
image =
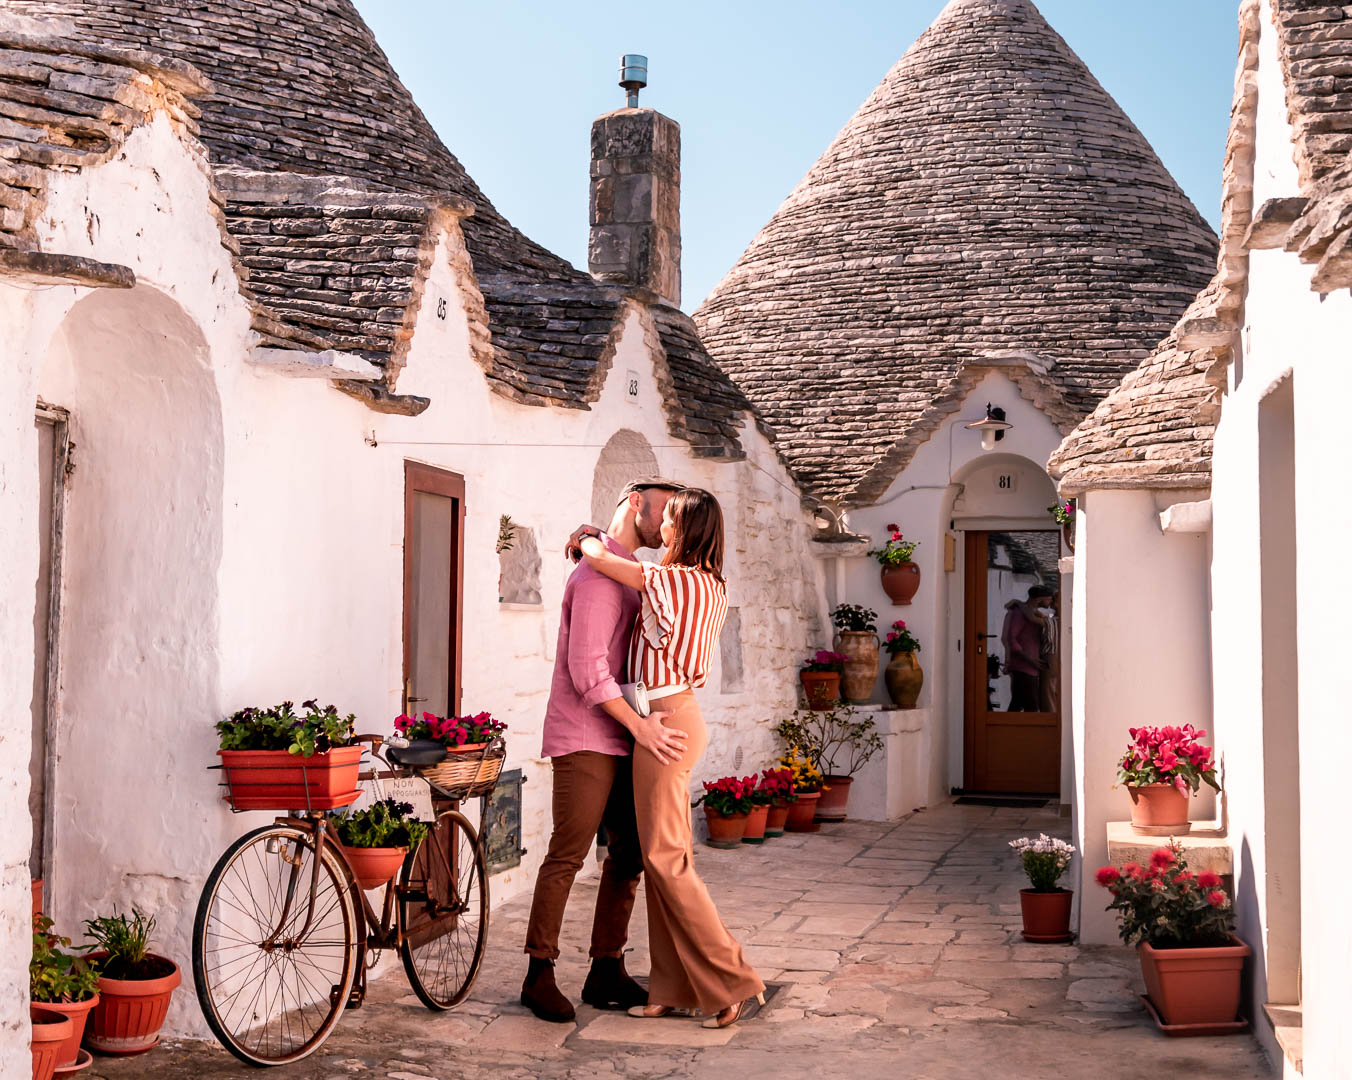
[[404,712],[460,711],[465,480],[404,462]]

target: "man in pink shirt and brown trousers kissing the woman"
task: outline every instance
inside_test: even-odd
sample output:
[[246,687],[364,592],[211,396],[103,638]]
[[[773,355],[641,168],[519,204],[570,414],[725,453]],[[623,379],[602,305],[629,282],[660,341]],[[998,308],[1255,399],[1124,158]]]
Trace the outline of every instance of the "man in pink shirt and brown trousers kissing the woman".
[[[599,534],[618,556],[661,547],[667,500],[681,485],[661,477],[625,488],[610,529]],[[596,531],[596,530],[594,530]],[[568,892],[604,825],[610,835],[592,919],[591,971],[583,1000],[596,1008],[648,1003],[648,991],[625,971],[629,916],[644,862],[634,822],[631,754],[637,742],[658,761],[684,753],[685,733],[662,727],[665,712],[639,716],[625,702],[625,658],[639,600],[608,577],[581,564],[564,589],[554,680],[545,711],[545,757],[554,766],[554,831],[535,879],[526,927],[530,966],[521,1003],[542,1021],[573,1019],[572,1002],[554,981],[558,931]]]

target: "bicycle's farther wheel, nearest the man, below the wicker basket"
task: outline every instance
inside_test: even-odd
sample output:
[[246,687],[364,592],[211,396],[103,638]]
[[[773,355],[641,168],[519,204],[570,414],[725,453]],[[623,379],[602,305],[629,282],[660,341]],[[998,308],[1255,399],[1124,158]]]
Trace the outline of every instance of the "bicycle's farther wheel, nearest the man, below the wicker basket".
[[427,1008],[454,1008],[469,995],[488,941],[488,868],[475,827],[457,810],[404,858],[400,918],[408,984]]

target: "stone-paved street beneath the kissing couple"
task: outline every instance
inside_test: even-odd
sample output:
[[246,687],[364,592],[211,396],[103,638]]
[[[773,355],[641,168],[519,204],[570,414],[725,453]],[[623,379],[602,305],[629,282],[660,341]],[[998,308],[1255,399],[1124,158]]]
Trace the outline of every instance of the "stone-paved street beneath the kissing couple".
[[[942,806],[898,825],[848,822],[763,848],[700,848],[723,918],[776,993],[756,1019],[706,1031],[690,1019],[635,1021],[583,1007],[546,1025],[516,1004],[527,900],[495,912],[473,999],[434,1015],[399,969],[372,985],[297,1077],[1194,1077],[1271,1076],[1249,1037],[1169,1039],[1136,1000],[1122,949],[1029,945],[1022,876],[1007,841],[1064,830],[1051,811]],[[585,973],[592,881],[565,926],[560,984]],[[1098,903],[1101,898],[1087,898]],[[646,971],[634,927],[630,966]],[[191,988],[185,988],[191,992]],[[88,1077],[207,1080],[250,1075],[204,1044],[99,1060]]]

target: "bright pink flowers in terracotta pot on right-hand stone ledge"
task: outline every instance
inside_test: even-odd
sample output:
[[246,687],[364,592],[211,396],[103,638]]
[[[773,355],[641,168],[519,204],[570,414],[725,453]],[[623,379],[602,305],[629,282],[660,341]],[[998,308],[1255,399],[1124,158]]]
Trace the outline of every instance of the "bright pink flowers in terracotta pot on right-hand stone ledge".
[[1146,835],[1179,835],[1187,819],[1188,793],[1203,783],[1221,789],[1211,747],[1198,739],[1206,731],[1182,727],[1133,727],[1132,742],[1117,766],[1117,783],[1132,796],[1132,827]]

